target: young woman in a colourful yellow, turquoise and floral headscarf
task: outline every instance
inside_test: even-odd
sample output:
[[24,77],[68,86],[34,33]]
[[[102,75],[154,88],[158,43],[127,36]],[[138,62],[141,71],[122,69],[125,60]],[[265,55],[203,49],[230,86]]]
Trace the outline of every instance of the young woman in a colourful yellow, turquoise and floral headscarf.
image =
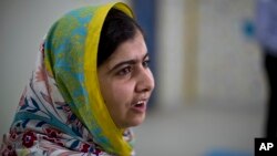
[[126,4],[69,12],[41,45],[1,155],[134,155],[130,127],[154,89],[148,61]]

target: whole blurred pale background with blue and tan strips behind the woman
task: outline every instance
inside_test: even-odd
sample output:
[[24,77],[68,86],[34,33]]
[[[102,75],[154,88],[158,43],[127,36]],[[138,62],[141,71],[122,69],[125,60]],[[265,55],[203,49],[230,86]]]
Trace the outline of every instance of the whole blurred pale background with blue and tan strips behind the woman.
[[[72,9],[106,1],[1,0],[1,136],[52,23]],[[134,128],[137,155],[253,156],[267,96],[255,1],[124,2],[146,31],[156,79],[147,118]]]

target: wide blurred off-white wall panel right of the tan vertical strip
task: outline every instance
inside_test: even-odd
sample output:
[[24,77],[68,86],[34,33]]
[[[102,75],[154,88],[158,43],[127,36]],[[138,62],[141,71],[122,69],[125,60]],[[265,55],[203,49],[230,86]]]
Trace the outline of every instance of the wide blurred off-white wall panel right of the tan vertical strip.
[[201,0],[198,90],[204,100],[263,104],[261,55],[243,33],[254,7],[254,0]]

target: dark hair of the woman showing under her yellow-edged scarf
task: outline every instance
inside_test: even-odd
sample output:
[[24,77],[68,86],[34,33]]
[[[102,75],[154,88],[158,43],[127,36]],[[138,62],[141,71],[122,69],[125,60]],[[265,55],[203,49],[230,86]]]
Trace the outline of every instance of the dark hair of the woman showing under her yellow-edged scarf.
[[142,28],[134,19],[124,12],[112,8],[107,13],[101,30],[98,66],[107,60],[121,43],[133,39],[137,30],[143,33]]

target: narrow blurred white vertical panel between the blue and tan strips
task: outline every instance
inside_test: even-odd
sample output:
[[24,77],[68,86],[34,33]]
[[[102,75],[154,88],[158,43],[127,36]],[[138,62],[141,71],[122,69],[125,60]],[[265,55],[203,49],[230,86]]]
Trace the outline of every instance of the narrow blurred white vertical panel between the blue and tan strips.
[[183,105],[184,101],[184,0],[157,2],[156,105],[163,108]]

